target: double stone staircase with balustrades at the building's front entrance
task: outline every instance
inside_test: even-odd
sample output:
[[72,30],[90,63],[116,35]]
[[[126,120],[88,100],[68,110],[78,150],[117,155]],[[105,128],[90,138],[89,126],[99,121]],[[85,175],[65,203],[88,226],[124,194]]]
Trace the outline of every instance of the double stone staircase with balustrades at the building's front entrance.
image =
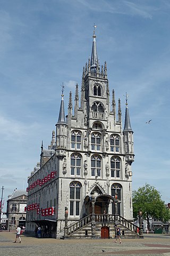
[[[89,214],[65,228],[63,238],[101,238],[101,228],[109,228],[109,238],[115,237],[115,225],[121,228],[124,238],[140,238],[140,228],[121,215],[112,214]],[[95,227],[95,234],[92,229]],[[93,234],[92,234],[93,233]]]

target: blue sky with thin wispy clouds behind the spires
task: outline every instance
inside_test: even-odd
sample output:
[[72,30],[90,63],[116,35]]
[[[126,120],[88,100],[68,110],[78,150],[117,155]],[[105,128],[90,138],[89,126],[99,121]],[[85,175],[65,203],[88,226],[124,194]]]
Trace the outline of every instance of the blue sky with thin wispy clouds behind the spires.
[[132,188],[148,183],[170,202],[169,0],[1,0],[0,186],[5,202],[15,188],[27,188],[41,141],[50,145],[61,84],[65,115],[77,83],[80,92],[94,23],[100,65],[107,62],[110,92],[114,89],[116,101],[121,99],[123,121],[124,95],[129,95]]

